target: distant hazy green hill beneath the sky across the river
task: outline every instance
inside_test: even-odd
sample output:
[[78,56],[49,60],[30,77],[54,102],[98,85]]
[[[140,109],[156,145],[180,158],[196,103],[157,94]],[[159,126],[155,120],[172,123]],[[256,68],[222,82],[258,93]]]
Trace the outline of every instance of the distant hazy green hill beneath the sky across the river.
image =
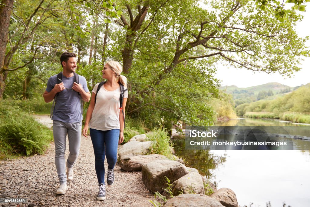
[[238,88],[236,85],[222,86],[219,89],[228,94],[232,94],[235,105],[250,103],[261,99],[273,99],[281,94],[293,91],[298,87],[290,87],[281,83],[266,83],[248,88]]

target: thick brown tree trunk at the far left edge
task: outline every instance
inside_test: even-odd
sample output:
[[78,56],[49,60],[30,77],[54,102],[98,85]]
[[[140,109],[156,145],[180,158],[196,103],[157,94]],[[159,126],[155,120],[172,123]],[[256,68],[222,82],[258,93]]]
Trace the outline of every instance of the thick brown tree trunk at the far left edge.
[[[5,88],[5,70],[3,68],[4,65],[4,57],[7,48],[7,35],[9,33],[10,26],[10,18],[11,12],[13,8],[14,0],[2,0],[0,5],[0,100],[2,99],[2,95]],[[4,5],[6,6],[4,6]]]

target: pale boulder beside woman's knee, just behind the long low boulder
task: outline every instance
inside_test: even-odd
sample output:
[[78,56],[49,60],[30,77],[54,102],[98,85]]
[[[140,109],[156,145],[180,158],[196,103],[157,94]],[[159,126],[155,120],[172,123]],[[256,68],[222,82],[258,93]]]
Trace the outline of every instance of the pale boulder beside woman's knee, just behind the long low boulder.
[[122,145],[118,149],[118,156],[122,158],[124,155],[146,155],[150,148],[152,147],[152,142],[127,142],[126,144]]

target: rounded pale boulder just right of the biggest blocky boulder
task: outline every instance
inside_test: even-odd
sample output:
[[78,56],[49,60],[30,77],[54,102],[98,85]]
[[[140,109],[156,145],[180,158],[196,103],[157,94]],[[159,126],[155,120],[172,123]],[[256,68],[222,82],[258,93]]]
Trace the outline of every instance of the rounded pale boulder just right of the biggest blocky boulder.
[[188,173],[172,183],[172,193],[178,196],[180,193],[205,194],[201,175],[196,172]]

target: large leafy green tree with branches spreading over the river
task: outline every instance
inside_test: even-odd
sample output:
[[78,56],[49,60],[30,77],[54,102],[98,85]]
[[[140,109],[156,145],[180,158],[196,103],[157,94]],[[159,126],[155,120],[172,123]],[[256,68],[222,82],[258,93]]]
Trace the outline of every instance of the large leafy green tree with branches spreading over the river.
[[[255,10],[252,1],[116,4],[124,12],[115,20],[122,39],[112,35],[117,43],[112,58],[122,55],[130,80],[126,110],[131,115],[156,111],[191,124],[208,124],[193,109],[204,108],[205,101],[216,96],[217,80],[212,78],[216,62],[290,76],[299,70],[296,63],[308,39],[298,38],[294,31],[300,15],[292,11],[290,19],[279,22],[272,9]],[[206,75],[200,77],[200,71]],[[206,94],[204,99],[194,93],[188,101],[188,92],[197,91]]]

